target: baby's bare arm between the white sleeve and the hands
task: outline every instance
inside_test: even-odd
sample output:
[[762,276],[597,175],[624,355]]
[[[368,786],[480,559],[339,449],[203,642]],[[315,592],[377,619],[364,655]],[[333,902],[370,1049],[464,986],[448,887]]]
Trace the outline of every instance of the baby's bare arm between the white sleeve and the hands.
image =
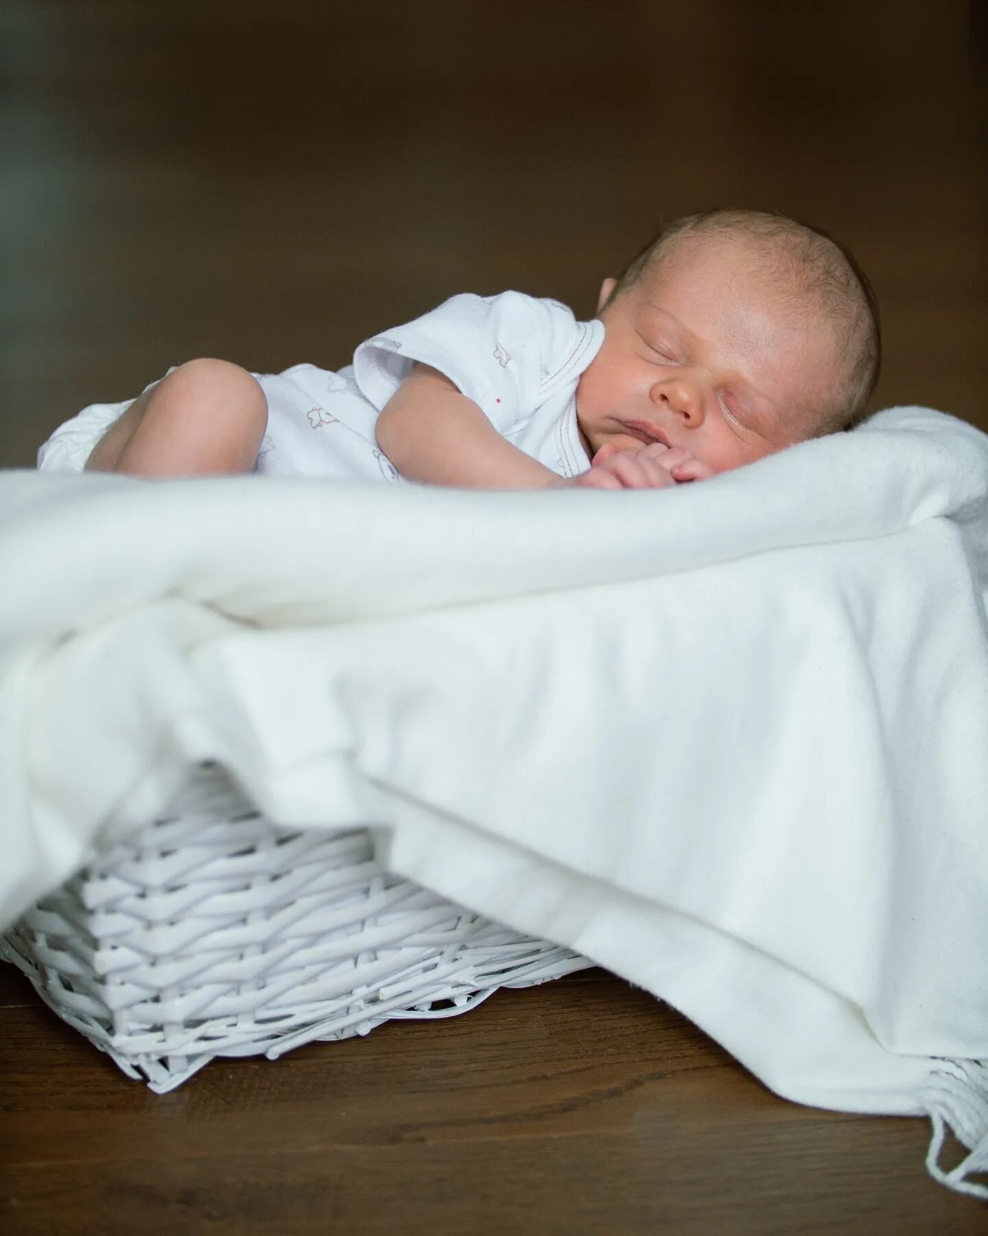
[[415,365],[384,404],[377,439],[410,481],[477,489],[542,489],[562,480],[501,438],[473,399],[429,365]]

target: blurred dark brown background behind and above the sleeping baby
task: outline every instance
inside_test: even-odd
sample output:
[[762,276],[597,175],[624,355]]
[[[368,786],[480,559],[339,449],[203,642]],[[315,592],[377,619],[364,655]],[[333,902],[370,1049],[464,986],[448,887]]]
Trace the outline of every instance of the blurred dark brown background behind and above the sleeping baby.
[[984,56],[963,2],[0,15],[5,466],[194,356],[340,367],[462,290],[589,316],[663,222],[720,204],[857,253],[884,310],[877,405],[988,428]]

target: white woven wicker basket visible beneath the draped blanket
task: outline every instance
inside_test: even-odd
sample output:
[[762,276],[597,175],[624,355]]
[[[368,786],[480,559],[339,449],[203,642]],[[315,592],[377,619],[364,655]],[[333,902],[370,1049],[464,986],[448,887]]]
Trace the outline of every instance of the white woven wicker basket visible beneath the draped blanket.
[[0,948],[159,1094],[216,1056],[274,1059],[590,965],[384,870],[368,829],[277,828],[214,768]]

